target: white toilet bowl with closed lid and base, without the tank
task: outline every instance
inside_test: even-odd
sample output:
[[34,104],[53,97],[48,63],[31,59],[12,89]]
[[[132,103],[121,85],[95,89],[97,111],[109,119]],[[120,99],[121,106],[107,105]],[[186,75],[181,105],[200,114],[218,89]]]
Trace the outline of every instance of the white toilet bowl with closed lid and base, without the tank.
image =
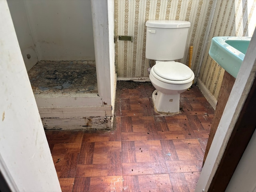
[[179,62],[156,61],[150,70],[149,78],[156,88],[152,94],[156,110],[162,113],[178,113],[180,111],[180,93],[192,85],[193,71]]

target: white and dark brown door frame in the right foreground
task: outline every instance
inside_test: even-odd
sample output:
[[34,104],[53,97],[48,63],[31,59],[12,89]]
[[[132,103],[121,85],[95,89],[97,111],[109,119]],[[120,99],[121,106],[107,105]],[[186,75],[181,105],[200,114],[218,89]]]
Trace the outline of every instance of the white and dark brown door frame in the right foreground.
[[[202,168],[196,192],[225,191],[254,133],[256,120],[256,30],[228,98]],[[246,129],[246,130],[245,130]]]

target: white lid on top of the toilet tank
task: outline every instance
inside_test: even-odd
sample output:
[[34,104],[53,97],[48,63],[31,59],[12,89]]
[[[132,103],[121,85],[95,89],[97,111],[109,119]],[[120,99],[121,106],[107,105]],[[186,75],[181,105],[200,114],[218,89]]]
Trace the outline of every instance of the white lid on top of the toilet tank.
[[148,20],[146,26],[155,28],[186,28],[190,27],[190,22],[181,20]]

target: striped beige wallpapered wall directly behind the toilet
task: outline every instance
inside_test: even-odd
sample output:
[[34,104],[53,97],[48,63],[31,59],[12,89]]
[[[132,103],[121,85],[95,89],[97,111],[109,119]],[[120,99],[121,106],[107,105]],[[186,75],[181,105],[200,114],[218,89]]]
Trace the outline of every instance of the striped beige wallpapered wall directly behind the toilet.
[[147,20],[186,20],[191,22],[184,58],[188,65],[189,47],[194,46],[192,70],[198,74],[202,47],[214,0],[114,0],[115,36],[133,36],[133,42],[116,42],[118,77],[148,77],[145,58]]

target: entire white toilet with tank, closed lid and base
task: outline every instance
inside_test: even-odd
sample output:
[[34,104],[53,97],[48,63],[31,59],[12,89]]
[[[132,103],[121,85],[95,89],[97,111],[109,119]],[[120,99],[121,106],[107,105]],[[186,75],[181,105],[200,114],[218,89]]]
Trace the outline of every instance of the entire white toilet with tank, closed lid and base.
[[152,100],[160,113],[180,112],[180,93],[193,83],[194,72],[174,60],[184,57],[190,22],[148,20],[146,22],[146,58],[156,60],[150,81],[156,90]]

